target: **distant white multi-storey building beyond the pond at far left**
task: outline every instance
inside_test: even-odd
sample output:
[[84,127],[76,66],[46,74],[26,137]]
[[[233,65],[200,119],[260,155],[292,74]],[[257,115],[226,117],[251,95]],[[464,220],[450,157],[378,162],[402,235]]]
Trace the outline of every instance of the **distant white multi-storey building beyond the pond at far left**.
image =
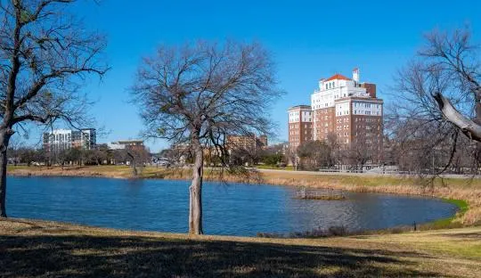
[[43,135],[43,147],[45,151],[63,151],[71,148],[84,150],[94,149],[97,143],[97,135],[94,128],[80,130],[54,129]]

